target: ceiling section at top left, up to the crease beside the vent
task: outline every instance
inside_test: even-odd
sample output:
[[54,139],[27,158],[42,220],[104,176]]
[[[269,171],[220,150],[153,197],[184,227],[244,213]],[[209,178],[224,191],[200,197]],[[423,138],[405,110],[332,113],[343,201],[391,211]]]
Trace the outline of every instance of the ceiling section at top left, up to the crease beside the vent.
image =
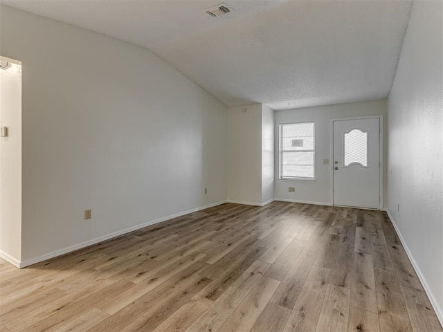
[[[289,0],[0,0],[7,6],[80,26],[145,48],[155,48]],[[228,3],[214,19],[202,10]]]

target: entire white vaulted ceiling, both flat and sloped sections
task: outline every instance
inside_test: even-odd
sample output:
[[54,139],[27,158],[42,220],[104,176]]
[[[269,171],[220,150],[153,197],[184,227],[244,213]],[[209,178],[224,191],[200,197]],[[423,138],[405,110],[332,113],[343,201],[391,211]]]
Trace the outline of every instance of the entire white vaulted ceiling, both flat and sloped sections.
[[[221,2],[235,11],[212,18]],[[386,98],[412,1],[1,1],[150,48],[223,102],[272,109]]]

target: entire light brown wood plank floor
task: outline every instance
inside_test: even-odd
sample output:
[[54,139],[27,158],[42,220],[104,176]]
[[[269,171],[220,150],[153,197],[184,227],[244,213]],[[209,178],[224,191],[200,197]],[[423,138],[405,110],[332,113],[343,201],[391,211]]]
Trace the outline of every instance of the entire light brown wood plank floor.
[[384,212],[224,204],[18,270],[0,331],[443,331]]

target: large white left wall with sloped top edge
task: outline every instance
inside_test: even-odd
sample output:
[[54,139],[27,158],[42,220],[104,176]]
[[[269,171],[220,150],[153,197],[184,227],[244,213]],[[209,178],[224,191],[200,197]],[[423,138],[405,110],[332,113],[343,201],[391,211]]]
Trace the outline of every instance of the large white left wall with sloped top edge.
[[226,200],[221,103],[144,48],[6,6],[0,21],[23,64],[22,261]]

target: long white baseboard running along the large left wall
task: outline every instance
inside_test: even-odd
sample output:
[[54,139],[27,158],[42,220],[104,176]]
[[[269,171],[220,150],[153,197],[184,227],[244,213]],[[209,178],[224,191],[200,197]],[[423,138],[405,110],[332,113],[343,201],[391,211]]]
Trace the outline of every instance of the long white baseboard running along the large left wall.
[[10,259],[7,259],[7,258],[5,258],[5,259],[7,261],[9,261],[10,263],[14,264],[15,266],[17,266],[18,268],[26,268],[26,266],[37,264],[37,263],[39,263],[41,261],[46,261],[47,259],[51,259],[51,258],[54,258],[54,257],[57,257],[57,256],[61,256],[61,255],[67,254],[69,252],[73,252],[75,250],[79,250],[79,249],[85,248],[87,246],[91,246],[93,244],[96,244],[96,243],[99,243],[99,242],[102,242],[102,241],[106,241],[106,240],[112,239],[114,237],[119,237],[120,235],[127,234],[129,232],[134,232],[134,230],[139,230],[141,228],[145,228],[147,226],[154,225],[156,223],[161,223],[162,221],[167,221],[169,219],[177,218],[178,216],[183,216],[183,215],[188,214],[188,213],[197,212],[197,211],[205,210],[205,209],[208,209],[208,208],[213,208],[214,206],[221,205],[221,204],[224,204],[224,203],[226,203],[226,201],[220,201],[220,202],[213,203],[213,204],[210,204],[210,205],[201,206],[200,208],[195,208],[195,209],[188,210],[188,211],[185,211],[185,212],[179,212],[177,214],[172,214],[170,216],[165,216],[163,218],[154,219],[152,221],[147,221],[146,223],[142,223],[140,225],[135,225],[135,226],[132,226],[130,228],[125,228],[125,230],[119,230],[117,232],[114,232],[114,233],[111,233],[111,234],[107,234],[107,235],[104,235],[102,237],[96,237],[95,239],[91,239],[89,241],[84,241],[82,243],[78,243],[78,244],[75,244],[73,246],[69,246],[69,247],[66,247],[66,248],[63,248],[63,249],[60,249],[60,250],[55,250],[53,252],[48,252],[45,255],[41,255],[41,256],[38,256],[38,257],[35,257],[35,258],[32,258],[32,259],[27,259],[26,261],[16,261],[16,263],[13,263],[12,261],[10,261]]

